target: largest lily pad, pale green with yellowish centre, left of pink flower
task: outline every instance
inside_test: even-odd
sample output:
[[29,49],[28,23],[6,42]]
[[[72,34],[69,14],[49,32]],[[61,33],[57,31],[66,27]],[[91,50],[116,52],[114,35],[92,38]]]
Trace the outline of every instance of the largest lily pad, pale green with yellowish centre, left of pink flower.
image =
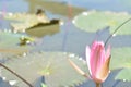
[[[36,52],[29,53],[20,59],[12,59],[5,65],[15,71],[29,83],[35,83],[40,76],[45,76],[45,83],[48,87],[73,87],[83,83],[86,78],[80,75],[69,63],[70,58],[83,71],[87,70],[79,57],[71,58],[70,53],[63,52]],[[16,86],[26,87],[19,78],[2,70],[2,76],[7,79],[16,80]]]

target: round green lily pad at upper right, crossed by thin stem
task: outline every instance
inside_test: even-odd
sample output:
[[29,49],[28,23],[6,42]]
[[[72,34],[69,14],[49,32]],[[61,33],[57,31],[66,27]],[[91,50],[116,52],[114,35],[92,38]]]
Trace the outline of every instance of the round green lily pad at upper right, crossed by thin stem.
[[[90,11],[83,12],[82,14],[74,17],[73,23],[80,29],[85,32],[97,32],[103,29],[107,26],[110,27],[110,33],[114,33],[115,29],[122,24],[124,21],[130,18],[131,15],[121,12],[97,12],[97,11]],[[119,35],[129,35],[131,34],[131,21],[124,24],[117,34]]]

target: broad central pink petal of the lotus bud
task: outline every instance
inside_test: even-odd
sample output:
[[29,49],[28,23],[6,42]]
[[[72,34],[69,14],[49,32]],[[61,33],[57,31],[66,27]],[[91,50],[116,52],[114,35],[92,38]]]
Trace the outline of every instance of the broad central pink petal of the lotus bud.
[[105,59],[104,42],[95,41],[91,49],[91,60],[90,60],[93,78],[96,77],[97,72],[102,69],[104,59]]

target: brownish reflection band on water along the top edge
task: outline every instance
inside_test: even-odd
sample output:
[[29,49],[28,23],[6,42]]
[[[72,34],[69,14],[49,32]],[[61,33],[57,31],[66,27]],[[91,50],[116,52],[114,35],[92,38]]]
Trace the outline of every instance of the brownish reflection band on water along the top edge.
[[[52,13],[61,14],[68,16],[69,14],[69,4],[57,3],[56,1],[41,1],[41,0],[26,0],[28,1],[29,12],[33,13],[37,8],[43,8]],[[72,7],[72,15],[76,15],[85,9]]]

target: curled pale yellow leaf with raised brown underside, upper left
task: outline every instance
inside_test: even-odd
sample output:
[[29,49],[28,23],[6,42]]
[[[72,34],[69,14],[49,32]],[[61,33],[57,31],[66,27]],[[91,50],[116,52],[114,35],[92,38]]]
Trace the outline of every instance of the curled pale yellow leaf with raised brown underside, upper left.
[[5,20],[12,20],[11,26],[13,32],[26,32],[29,36],[44,37],[45,35],[53,35],[58,33],[59,20],[48,20],[43,14],[38,16],[36,14],[14,13],[12,15],[5,15]]

